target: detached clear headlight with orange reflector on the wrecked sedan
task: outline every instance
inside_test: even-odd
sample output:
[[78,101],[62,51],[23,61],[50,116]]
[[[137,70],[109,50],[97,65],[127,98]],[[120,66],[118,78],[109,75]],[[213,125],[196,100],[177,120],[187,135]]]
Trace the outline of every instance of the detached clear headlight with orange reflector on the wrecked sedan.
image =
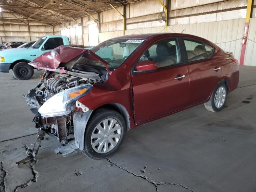
[[38,112],[43,117],[55,117],[70,114],[74,102],[88,94],[92,89],[92,85],[84,84],[70,89],[66,89],[50,99],[46,100],[39,108]]

